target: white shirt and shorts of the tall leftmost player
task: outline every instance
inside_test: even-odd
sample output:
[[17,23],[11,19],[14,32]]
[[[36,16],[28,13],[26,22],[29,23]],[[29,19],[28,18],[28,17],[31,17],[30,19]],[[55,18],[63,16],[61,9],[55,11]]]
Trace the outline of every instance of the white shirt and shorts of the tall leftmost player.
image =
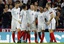
[[11,31],[16,31],[16,29],[20,28],[20,8],[13,8],[11,11],[12,14],[12,22],[11,22]]

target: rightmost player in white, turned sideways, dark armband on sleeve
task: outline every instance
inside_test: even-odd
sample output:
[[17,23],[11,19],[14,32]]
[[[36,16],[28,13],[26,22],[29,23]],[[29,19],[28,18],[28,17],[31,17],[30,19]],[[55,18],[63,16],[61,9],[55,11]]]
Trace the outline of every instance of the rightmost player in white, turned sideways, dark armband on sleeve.
[[54,36],[54,29],[55,29],[55,12],[54,10],[51,8],[50,3],[46,4],[46,8],[48,9],[47,13],[46,13],[46,19],[47,19],[47,25],[48,25],[48,29],[49,29],[49,33],[50,33],[50,42],[56,42],[55,36]]

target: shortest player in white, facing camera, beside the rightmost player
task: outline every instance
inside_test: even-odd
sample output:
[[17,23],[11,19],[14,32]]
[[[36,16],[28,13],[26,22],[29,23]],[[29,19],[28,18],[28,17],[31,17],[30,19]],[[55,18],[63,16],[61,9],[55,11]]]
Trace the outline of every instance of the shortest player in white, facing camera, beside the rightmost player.
[[45,14],[43,12],[43,7],[40,7],[40,12],[38,13],[38,32],[42,32],[40,36],[40,43],[43,42],[44,39],[44,30],[45,30]]

